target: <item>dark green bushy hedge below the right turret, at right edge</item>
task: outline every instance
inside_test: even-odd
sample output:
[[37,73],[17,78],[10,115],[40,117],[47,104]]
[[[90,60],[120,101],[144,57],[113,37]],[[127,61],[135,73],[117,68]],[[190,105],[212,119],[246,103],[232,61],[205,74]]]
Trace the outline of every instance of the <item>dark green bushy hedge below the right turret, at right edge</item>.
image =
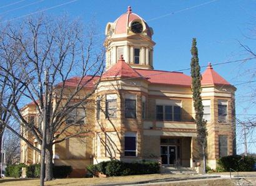
[[254,157],[235,155],[235,156],[225,156],[219,159],[219,165],[224,169],[224,171],[228,171],[232,168],[236,171],[253,171],[255,164]]

